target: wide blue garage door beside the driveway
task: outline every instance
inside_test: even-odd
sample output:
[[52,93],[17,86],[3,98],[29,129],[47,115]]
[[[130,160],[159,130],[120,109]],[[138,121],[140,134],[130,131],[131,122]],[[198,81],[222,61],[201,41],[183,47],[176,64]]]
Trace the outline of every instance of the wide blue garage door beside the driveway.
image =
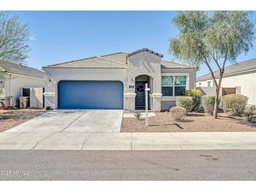
[[123,83],[60,81],[58,109],[123,109]]

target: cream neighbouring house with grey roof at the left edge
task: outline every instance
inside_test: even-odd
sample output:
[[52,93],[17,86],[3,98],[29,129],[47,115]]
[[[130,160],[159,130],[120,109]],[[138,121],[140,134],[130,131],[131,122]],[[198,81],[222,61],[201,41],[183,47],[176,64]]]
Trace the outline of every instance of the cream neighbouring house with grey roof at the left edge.
[[44,87],[44,78],[44,71],[22,64],[0,61],[0,88],[2,90],[0,97],[6,98],[6,107],[17,106],[20,88]]

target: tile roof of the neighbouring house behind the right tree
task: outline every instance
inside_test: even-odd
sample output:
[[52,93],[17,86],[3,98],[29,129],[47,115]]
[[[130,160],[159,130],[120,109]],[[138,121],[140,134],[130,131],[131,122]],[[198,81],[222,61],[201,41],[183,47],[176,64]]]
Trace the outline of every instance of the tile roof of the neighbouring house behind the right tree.
[[[224,76],[229,76],[232,74],[236,74],[236,73],[240,73],[240,72],[245,72],[248,70],[256,70],[256,58],[252,59],[252,60],[246,60],[244,62],[239,62],[237,64],[231,64],[229,65],[229,67],[225,68],[224,71]],[[214,71],[214,75],[216,77],[219,76],[219,70]],[[196,81],[202,81],[202,80],[207,80],[207,79],[211,79],[212,76],[209,74],[203,75],[203,76],[199,76],[198,78],[196,78]]]

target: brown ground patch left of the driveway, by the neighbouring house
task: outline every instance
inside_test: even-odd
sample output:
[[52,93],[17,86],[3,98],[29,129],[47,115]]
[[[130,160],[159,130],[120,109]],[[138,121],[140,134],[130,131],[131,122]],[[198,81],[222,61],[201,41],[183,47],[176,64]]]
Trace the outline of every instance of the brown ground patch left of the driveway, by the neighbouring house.
[[29,121],[41,114],[46,113],[45,109],[13,109],[0,111],[0,132],[11,129],[20,123]]

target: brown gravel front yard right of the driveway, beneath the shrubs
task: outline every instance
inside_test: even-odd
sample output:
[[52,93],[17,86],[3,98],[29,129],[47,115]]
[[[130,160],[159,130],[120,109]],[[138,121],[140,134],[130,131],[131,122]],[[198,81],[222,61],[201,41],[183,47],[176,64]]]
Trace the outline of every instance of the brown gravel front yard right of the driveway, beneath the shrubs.
[[149,127],[145,121],[137,118],[123,118],[121,132],[243,132],[256,131],[256,123],[248,123],[244,117],[232,117],[219,114],[219,118],[203,113],[190,113],[184,121],[175,122],[170,113],[155,113],[149,118]]

